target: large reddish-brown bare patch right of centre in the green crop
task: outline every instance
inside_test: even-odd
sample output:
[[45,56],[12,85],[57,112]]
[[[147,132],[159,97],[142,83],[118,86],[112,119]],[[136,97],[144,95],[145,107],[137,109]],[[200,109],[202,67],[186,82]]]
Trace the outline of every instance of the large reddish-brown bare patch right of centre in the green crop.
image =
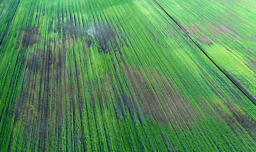
[[[186,95],[177,92],[178,88],[171,84],[159,71],[149,70],[152,73],[150,77],[153,77],[149,79],[143,74],[143,69],[123,67],[123,70],[127,79],[131,81],[128,87],[133,102],[134,100],[138,102],[138,106],[143,111],[142,113],[145,112],[152,120],[165,124],[188,126],[190,126],[190,123],[194,123],[195,120],[199,120]],[[125,107],[127,103],[132,103],[132,101],[129,99],[124,103],[123,106]],[[133,105],[136,106],[136,104]],[[132,113],[140,111],[139,107],[134,107],[133,109],[134,112]]]

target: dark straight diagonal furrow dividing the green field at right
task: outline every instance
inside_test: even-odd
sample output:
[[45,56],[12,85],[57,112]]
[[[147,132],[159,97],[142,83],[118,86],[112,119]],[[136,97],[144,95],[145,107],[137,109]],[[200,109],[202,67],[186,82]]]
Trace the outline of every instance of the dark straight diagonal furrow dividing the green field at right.
[[222,70],[219,65],[217,65],[214,60],[209,57],[209,55],[203,50],[202,46],[194,39],[191,38],[188,33],[186,32],[186,29],[182,27],[182,25],[177,22],[161,5],[157,0],[154,0],[160,8],[177,24],[178,27],[180,27],[181,30],[183,30],[184,33],[192,40],[192,42],[208,57],[209,60],[256,106],[256,99],[253,98],[253,96],[233,77],[231,74],[228,73],[228,71]]

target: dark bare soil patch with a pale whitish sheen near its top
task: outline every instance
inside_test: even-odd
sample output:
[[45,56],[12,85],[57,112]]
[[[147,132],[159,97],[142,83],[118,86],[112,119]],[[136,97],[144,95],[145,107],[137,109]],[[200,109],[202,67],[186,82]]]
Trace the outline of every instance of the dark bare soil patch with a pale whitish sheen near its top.
[[[108,53],[110,51],[117,51],[124,46],[123,41],[126,43],[126,37],[123,35],[119,28],[112,28],[109,23],[94,23],[86,27],[80,27],[79,24],[73,21],[70,17],[70,21],[67,21],[59,25],[59,33],[63,30],[63,33],[67,33],[70,39],[77,43],[80,39],[87,46],[88,49],[92,45],[97,45],[98,52]],[[118,43],[117,37],[122,41]],[[127,44],[127,43],[126,43]],[[129,47],[129,44],[127,44]]]

